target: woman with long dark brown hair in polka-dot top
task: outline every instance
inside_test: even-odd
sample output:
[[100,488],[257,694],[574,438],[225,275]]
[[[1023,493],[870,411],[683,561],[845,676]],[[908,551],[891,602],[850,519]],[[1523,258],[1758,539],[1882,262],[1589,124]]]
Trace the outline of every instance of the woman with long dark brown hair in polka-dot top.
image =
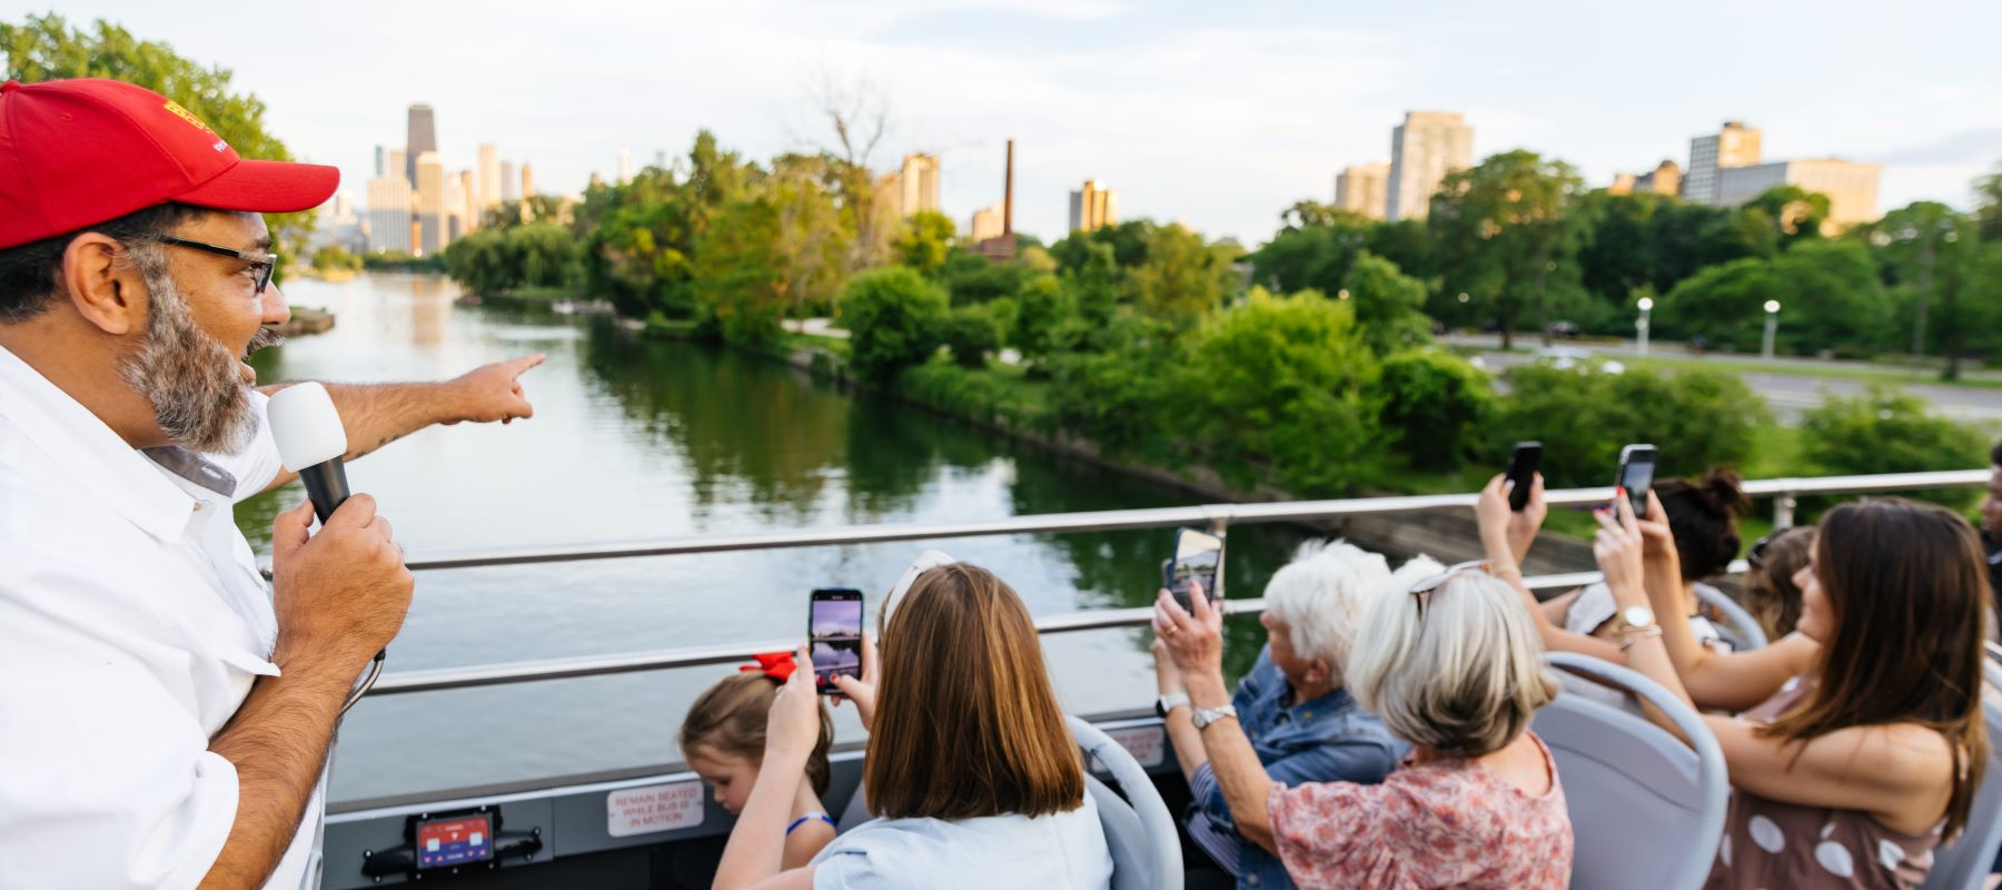
[[[1626,497],[1614,507],[1594,549],[1620,605],[1646,613],[1680,575],[1674,535],[1654,497],[1648,521]],[[1916,888],[1934,848],[1966,828],[1988,764],[1980,539],[1944,507],[1844,503],[1794,581],[1798,633],[1820,645],[1740,661],[1732,682],[1762,704],[1704,718],[1736,788],[1708,888]],[[1622,645],[1630,668],[1688,702],[1684,621],[1628,623]]]

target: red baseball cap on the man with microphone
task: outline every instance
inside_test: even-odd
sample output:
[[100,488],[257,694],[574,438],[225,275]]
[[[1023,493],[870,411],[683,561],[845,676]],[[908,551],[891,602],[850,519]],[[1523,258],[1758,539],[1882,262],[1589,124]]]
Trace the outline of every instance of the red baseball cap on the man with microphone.
[[0,84],[0,249],[152,204],[292,212],[322,204],[340,170],[244,160],[178,102],[118,80]]

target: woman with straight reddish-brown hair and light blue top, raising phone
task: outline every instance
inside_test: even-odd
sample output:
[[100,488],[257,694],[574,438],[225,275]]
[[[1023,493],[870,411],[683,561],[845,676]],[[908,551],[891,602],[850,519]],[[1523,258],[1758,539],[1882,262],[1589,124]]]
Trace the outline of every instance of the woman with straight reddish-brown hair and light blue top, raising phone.
[[819,736],[811,672],[795,672],[773,702],[763,770],[715,888],[1111,884],[1035,623],[999,577],[967,563],[925,569],[891,611],[881,653],[865,639],[861,680],[837,686],[871,732],[863,786],[877,818],[781,872],[791,796]]

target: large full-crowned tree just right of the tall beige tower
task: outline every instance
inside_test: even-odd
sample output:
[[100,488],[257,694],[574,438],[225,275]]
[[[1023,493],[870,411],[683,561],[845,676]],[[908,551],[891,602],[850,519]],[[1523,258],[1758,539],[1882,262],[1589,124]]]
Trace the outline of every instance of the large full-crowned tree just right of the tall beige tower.
[[[1554,285],[1576,279],[1572,259],[1582,227],[1574,206],[1584,180],[1572,164],[1528,150],[1493,154],[1455,170],[1431,196],[1427,223],[1447,293],[1467,293],[1491,309],[1501,345],[1528,311],[1550,337]],[[1441,303],[1445,311],[1457,311]]]

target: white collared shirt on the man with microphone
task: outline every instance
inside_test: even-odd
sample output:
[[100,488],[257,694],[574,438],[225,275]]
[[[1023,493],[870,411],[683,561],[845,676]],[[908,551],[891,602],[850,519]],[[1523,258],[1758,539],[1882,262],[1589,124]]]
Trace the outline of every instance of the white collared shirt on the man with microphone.
[[[230,509],[278,465],[268,429],[242,455],[134,451],[0,349],[0,888],[208,874],[236,820],[208,740],[278,674]],[[266,888],[316,884],[324,780]]]

